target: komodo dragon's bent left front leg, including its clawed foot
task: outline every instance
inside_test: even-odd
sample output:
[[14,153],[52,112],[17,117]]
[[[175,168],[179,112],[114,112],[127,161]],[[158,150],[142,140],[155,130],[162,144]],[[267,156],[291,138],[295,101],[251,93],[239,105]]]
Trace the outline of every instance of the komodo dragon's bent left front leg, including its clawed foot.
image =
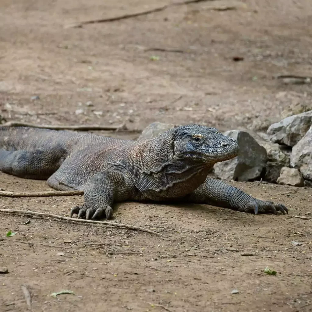
[[78,218],[96,220],[105,216],[111,218],[114,202],[131,199],[135,193],[135,187],[127,173],[118,169],[96,173],[83,187],[84,204],[71,209],[71,217],[74,213]]

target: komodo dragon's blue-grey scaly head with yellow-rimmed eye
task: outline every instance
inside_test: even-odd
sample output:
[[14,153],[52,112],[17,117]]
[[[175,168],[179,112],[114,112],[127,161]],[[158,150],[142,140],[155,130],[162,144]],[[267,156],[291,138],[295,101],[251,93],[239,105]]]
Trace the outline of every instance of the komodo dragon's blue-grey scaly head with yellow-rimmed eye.
[[193,124],[175,130],[174,154],[180,159],[213,165],[234,158],[239,152],[235,139],[224,136],[216,128]]

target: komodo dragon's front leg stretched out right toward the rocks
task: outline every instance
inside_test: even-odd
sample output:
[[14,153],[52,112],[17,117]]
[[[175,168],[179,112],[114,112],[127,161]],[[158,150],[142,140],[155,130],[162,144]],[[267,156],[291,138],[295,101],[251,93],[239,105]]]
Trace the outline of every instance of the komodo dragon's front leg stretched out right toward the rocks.
[[239,188],[229,185],[222,180],[206,178],[205,182],[197,188],[189,200],[196,203],[204,203],[213,206],[230,208],[242,212],[274,213],[277,211],[288,214],[287,208],[282,204],[271,201],[262,201],[248,195]]

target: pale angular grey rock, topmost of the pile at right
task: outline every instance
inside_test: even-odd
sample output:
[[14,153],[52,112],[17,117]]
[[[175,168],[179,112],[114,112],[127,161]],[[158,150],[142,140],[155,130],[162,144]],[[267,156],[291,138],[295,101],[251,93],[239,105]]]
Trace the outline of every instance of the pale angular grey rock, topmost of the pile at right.
[[267,134],[271,136],[271,141],[274,143],[294,146],[306,134],[311,124],[312,110],[271,124]]

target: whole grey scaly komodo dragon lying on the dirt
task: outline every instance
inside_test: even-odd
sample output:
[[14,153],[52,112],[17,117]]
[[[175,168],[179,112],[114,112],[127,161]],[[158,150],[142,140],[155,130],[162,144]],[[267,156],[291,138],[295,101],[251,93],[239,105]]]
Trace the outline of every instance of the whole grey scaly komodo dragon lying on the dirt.
[[0,127],[0,170],[46,180],[56,190],[83,190],[71,217],[112,217],[113,202],[183,201],[255,214],[288,213],[282,204],[256,199],[207,177],[216,162],[235,157],[236,141],[216,128],[180,126],[149,140],[90,133]]

